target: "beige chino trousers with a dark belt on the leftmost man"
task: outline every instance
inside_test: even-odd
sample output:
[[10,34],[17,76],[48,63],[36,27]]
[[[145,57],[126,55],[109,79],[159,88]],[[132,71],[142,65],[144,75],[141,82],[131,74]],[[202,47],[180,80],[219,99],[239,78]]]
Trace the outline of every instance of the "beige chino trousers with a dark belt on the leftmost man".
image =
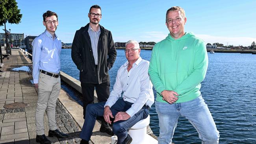
[[43,73],[39,73],[38,79],[38,101],[35,112],[35,127],[37,135],[43,135],[44,132],[44,113],[48,117],[50,130],[57,129],[56,124],[56,101],[61,89],[60,77],[54,78]]

